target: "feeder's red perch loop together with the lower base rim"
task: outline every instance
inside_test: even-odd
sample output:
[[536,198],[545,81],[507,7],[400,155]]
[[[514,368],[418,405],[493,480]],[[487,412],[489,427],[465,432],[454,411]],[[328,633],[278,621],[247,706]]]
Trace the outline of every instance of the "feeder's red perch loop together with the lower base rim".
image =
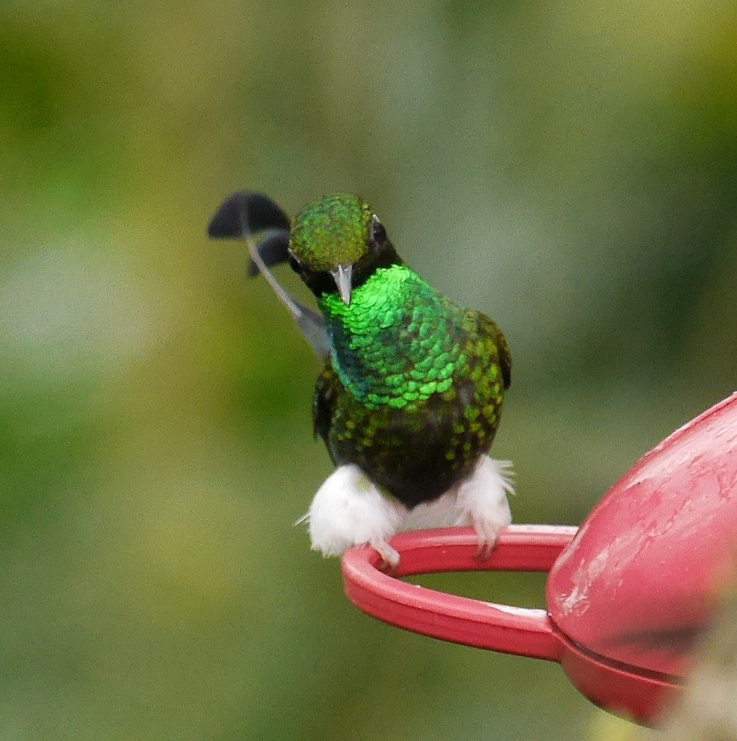
[[499,605],[407,584],[398,577],[439,571],[547,571],[576,528],[511,525],[499,534],[491,558],[476,557],[470,528],[396,536],[401,554],[391,576],[379,571],[373,548],[353,548],[343,559],[346,594],[359,608],[392,625],[476,648],[560,662],[586,697],[633,720],[649,722],[677,688],[672,677],[632,671],[574,645],[545,610]]

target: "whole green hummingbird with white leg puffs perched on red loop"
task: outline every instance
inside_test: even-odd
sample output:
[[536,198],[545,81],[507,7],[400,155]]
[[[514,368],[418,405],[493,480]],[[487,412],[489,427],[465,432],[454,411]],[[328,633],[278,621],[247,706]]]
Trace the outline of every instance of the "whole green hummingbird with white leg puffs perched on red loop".
[[[262,193],[229,196],[214,238],[249,243],[261,273],[323,363],[312,419],[335,471],[307,514],[312,548],[340,556],[368,543],[387,565],[400,529],[473,525],[488,556],[511,522],[511,462],[492,459],[509,348],[493,319],[433,288],[396,252],[370,205],[335,193],[294,219]],[[318,310],[271,268],[288,263]]]

